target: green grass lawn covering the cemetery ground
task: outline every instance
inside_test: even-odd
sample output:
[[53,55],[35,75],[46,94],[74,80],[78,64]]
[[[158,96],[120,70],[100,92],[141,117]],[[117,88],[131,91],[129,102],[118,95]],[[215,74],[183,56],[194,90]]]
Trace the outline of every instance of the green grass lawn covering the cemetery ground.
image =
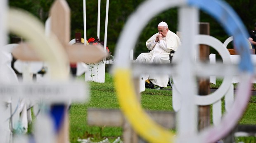
[[[84,81],[84,76],[78,77],[77,80]],[[221,80],[217,80],[217,84],[211,84],[211,88],[218,88],[220,83]],[[78,138],[87,139],[89,137],[91,141],[95,142],[102,141],[105,138],[113,142],[117,137],[122,136],[121,127],[90,127],[86,123],[88,108],[119,108],[113,79],[110,74],[106,74],[105,83],[89,82],[89,84],[91,92],[90,100],[84,104],[73,103],[69,111],[70,142],[79,143],[77,141]],[[146,89],[141,93],[141,96],[142,108],[173,111],[171,90]],[[256,124],[256,114],[254,111],[256,111],[256,97],[252,96],[239,124]]]

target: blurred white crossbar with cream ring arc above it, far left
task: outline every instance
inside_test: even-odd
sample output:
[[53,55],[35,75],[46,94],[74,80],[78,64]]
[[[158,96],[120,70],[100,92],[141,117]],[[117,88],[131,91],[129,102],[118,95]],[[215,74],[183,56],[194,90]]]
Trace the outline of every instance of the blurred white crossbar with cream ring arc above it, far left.
[[[46,38],[43,34],[43,28],[40,27],[40,23],[23,12],[12,10],[8,15],[7,21],[12,32],[24,35],[25,38],[31,39],[31,41],[34,40],[33,42],[35,43],[33,44],[35,46],[31,46],[31,48],[36,52],[41,51],[42,53],[39,55],[43,57],[43,59],[48,60],[51,67],[50,73],[52,78],[55,78],[55,81],[37,85],[29,83],[21,85],[1,84],[1,97],[19,96],[24,98],[42,98],[45,101],[49,101],[49,103],[67,103],[70,99],[74,101],[85,101],[87,91],[85,90],[84,84],[63,82],[69,77],[65,62],[68,60],[65,59],[65,52],[62,50],[61,45],[53,40],[54,37],[51,39]],[[19,25],[15,25],[14,21],[19,21]],[[28,30],[31,26],[34,27],[36,31]],[[36,39],[40,40],[37,41]],[[49,58],[52,59],[49,60]],[[70,95],[72,96],[70,97]],[[67,141],[66,136],[62,136],[62,141]]]

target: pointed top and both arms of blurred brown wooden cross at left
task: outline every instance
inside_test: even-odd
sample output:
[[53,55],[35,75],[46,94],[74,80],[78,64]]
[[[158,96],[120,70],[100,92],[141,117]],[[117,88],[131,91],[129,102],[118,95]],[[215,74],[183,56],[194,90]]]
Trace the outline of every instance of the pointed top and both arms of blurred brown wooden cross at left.
[[[66,49],[70,62],[94,63],[107,56],[100,46],[68,45],[70,41],[70,9],[66,0],[55,0],[50,9],[50,16],[51,30]],[[20,60],[39,60],[40,58],[31,49],[31,44],[22,44],[14,49],[14,57]]]

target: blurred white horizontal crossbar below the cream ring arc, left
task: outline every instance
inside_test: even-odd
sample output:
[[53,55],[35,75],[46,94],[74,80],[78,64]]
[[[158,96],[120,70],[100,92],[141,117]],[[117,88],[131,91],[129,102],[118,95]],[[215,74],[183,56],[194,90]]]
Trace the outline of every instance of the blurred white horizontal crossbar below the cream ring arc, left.
[[[88,92],[84,82],[75,83],[23,83],[1,84],[0,96],[22,97],[26,99],[44,99],[47,102],[66,103],[72,101],[84,101]],[[76,95],[76,96],[70,96]]]

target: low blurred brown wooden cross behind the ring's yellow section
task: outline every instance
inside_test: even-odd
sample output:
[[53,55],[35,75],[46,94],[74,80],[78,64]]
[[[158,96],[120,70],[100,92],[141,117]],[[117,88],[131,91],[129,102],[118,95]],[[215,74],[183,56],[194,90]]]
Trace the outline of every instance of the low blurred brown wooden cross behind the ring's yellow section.
[[[134,87],[137,93],[137,100],[140,101],[139,78],[134,78]],[[168,129],[175,128],[175,113],[172,111],[147,111],[159,125]],[[123,113],[119,109],[100,109],[88,108],[87,124],[90,126],[109,126],[123,128],[124,143],[142,143],[144,139],[140,138],[132,129],[129,122],[125,119]]]

